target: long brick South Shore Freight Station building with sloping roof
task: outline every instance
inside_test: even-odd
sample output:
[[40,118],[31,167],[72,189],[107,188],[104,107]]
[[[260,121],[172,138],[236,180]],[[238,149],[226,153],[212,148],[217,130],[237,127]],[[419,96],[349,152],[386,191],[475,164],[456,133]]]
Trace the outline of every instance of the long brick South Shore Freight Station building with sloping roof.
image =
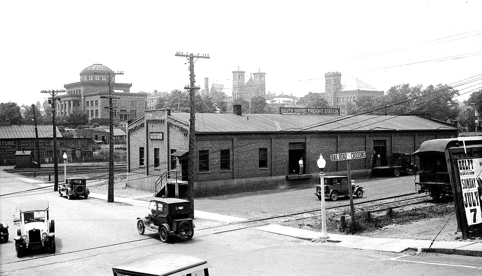
[[[237,108],[239,107],[239,108]],[[332,153],[362,151],[352,170],[373,167],[382,155],[413,153],[426,140],[457,136],[451,124],[415,116],[320,116],[196,113],[198,166],[196,196],[280,189],[317,183],[320,153],[325,172],[346,173],[346,163],[329,162]],[[343,119],[343,120],[341,120]],[[187,180],[189,113],[148,110],[128,125],[128,187],[154,191],[166,171]],[[304,160],[299,176],[298,160]],[[386,160],[386,159],[385,159]]]

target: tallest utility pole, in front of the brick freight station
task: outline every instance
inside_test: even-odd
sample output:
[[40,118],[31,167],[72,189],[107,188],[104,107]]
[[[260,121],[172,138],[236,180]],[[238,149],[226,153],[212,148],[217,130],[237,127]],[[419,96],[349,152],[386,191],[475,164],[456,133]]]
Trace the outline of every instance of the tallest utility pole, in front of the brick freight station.
[[194,58],[196,60],[198,58],[209,58],[208,54],[203,54],[200,56],[199,54],[195,56],[194,54],[188,54],[186,53],[176,53],[177,57],[186,57],[189,60],[189,79],[190,79],[190,85],[185,86],[184,89],[186,89],[189,93],[189,152],[188,152],[188,178],[187,178],[187,185],[189,187],[188,193],[187,193],[187,200],[190,201],[191,205],[191,213],[189,216],[191,218],[194,218],[194,182],[196,180],[196,171],[197,168],[194,164],[197,156],[196,152],[196,109],[194,105],[194,96],[196,94],[196,90],[199,90],[199,86],[196,86],[196,81],[195,81],[195,76],[194,75]]

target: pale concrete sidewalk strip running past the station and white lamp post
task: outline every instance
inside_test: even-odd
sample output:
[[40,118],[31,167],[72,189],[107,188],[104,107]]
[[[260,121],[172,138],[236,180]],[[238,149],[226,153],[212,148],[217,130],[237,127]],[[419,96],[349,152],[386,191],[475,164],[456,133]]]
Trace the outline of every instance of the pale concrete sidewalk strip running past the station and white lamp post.
[[[107,200],[107,196],[103,194],[90,193],[90,197]],[[148,206],[149,202],[124,198],[114,197],[115,202],[123,202],[130,205]],[[245,218],[226,216],[221,214],[209,213],[196,210],[196,219],[211,220],[225,223],[239,222],[247,220]],[[308,241],[322,240],[321,232],[310,231],[307,229],[300,229],[295,227],[282,226],[278,224],[269,224],[255,229],[259,231],[274,233],[278,235],[290,236],[296,239]],[[477,241],[435,241],[431,240],[413,240],[413,239],[394,239],[394,238],[369,238],[364,236],[354,235],[340,235],[330,234],[327,242],[331,242],[336,246],[352,248],[352,249],[366,249],[387,252],[403,252],[408,249],[413,249],[418,252],[437,252],[441,254],[456,254],[464,256],[482,257],[482,242]]]

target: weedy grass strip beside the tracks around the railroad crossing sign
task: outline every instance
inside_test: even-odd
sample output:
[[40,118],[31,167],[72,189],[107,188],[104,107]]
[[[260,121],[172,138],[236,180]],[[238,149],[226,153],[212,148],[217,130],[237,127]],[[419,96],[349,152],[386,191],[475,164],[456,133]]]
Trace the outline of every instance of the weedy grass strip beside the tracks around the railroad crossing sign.
[[[356,212],[354,221],[351,221],[350,215],[345,215],[346,223],[343,223],[340,215],[328,217],[326,228],[327,232],[331,233],[359,234],[374,232],[390,224],[407,224],[420,219],[443,217],[452,212],[453,203],[451,202],[404,212],[398,212],[394,209],[389,211],[387,215],[379,217],[374,217],[370,212],[360,210]],[[313,221],[306,223],[297,222],[297,226],[321,231],[321,218],[316,217]]]

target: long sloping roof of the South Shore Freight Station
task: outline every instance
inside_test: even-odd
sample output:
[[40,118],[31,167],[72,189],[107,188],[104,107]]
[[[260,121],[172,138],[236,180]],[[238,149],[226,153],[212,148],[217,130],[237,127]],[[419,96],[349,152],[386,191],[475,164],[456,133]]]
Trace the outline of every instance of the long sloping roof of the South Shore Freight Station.
[[[189,113],[171,113],[173,120],[188,125]],[[429,131],[453,130],[446,123],[431,121],[417,116],[320,116],[196,113],[196,132],[279,132],[279,131]]]

